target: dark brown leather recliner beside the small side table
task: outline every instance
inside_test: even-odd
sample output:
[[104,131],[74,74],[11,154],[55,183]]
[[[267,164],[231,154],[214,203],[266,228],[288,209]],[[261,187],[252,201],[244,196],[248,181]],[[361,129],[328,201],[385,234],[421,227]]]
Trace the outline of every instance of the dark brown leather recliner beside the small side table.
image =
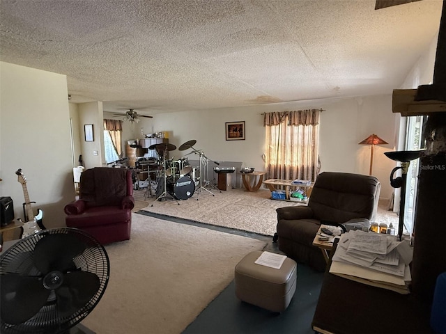
[[324,271],[326,262],[322,252],[312,245],[321,221],[346,223],[353,218],[374,221],[379,193],[380,182],[373,176],[334,172],[319,174],[308,206],[276,209],[279,250],[296,262]]

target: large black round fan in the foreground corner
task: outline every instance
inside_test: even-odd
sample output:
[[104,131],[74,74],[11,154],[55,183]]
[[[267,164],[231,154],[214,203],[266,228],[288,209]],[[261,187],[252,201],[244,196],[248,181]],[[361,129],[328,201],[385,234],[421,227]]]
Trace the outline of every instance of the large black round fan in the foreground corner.
[[90,234],[75,228],[31,234],[0,257],[1,333],[82,333],[75,326],[108,280],[109,257]]

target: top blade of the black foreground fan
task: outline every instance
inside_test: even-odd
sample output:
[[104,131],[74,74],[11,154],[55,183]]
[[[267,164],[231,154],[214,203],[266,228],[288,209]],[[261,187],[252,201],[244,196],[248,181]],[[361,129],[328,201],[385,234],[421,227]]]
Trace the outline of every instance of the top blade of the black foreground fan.
[[47,234],[34,248],[34,261],[42,273],[75,269],[72,259],[81,254],[86,244],[72,234]]

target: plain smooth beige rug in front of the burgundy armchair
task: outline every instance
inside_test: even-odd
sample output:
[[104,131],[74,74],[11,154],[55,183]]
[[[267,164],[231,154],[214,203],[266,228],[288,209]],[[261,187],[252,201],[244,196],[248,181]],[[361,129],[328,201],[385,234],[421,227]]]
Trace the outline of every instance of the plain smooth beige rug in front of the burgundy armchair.
[[98,334],[181,333],[266,243],[132,214],[132,237],[105,246],[110,279],[82,321]]

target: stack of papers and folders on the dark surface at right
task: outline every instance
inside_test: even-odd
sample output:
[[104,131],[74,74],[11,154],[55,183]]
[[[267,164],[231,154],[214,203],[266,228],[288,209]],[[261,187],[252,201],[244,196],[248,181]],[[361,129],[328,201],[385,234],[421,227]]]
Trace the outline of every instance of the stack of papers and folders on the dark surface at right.
[[413,249],[390,234],[350,230],[341,234],[330,273],[360,283],[408,294]]

